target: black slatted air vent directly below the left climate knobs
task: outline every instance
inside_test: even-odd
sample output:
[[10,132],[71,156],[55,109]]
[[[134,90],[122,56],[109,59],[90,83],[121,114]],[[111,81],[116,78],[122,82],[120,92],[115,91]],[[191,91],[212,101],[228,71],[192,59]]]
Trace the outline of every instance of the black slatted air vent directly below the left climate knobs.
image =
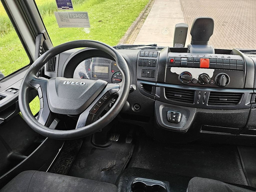
[[195,91],[188,89],[165,88],[165,97],[173,101],[194,103]]

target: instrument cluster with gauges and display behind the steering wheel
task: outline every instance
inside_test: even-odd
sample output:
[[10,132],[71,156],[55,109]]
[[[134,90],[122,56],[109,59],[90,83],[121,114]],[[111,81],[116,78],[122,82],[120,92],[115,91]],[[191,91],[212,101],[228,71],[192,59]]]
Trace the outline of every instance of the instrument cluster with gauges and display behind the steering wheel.
[[121,83],[122,73],[116,62],[105,57],[91,57],[78,64],[73,73],[76,79],[102,79],[108,83]]

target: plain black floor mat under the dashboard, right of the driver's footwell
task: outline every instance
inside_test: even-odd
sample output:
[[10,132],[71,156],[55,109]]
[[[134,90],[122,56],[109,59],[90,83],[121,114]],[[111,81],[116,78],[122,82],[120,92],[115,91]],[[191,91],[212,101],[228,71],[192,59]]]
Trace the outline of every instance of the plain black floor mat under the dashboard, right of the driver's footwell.
[[140,137],[129,167],[248,185],[236,146],[167,144]]

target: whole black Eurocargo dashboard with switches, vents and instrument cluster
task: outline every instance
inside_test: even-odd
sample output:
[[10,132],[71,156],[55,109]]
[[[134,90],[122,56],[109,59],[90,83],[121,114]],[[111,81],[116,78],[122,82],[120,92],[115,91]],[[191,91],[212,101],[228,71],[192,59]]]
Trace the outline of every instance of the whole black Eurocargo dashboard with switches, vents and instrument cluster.
[[[118,51],[136,86],[118,121],[141,126],[161,141],[256,144],[255,55],[237,49],[193,54],[170,47]],[[121,83],[117,65],[106,52],[73,49],[47,62],[44,74]],[[11,86],[1,82],[0,110],[7,108],[8,98],[17,99],[22,74]]]

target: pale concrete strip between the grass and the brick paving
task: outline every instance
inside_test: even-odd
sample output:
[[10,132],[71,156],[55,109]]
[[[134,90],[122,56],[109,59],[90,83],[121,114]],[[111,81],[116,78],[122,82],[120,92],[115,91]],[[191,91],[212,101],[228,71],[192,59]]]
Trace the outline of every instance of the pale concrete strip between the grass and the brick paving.
[[178,23],[185,23],[180,0],[155,0],[133,44],[156,43],[158,46],[172,47],[174,29]]

